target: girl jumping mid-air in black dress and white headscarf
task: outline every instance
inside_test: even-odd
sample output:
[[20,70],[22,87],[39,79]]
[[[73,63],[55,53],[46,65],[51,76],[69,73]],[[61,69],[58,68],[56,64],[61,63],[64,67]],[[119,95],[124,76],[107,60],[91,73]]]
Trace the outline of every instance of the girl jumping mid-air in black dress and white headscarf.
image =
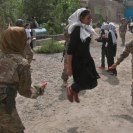
[[99,75],[91,57],[89,45],[91,35],[96,34],[90,26],[90,11],[86,8],[78,9],[68,19],[70,43],[67,50],[67,74],[73,75],[74,83],[67,87],[70,102],[80,102],[78,93],[81,90],[93,89],[97,86]]

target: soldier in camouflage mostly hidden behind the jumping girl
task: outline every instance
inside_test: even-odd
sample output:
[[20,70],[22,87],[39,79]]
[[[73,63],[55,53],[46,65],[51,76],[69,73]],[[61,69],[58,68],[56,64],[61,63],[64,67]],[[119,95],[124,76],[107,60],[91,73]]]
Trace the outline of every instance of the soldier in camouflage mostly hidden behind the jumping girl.
[[64,29],[64,38],[65,38],[65,44],[64,44],[64,52],[63,52],[63,56],[64,56],[64,68],[63,68],[63,72],[61,75],[61,78],[63,80],[63,86],[66,87],[67,86],[67,80],[68,80],[68,75],[66,72],[66,67],[67,67],[67,47],[68,47],[68,43],[70,40],[69,34],[68,34],[68,25],[65,27]]

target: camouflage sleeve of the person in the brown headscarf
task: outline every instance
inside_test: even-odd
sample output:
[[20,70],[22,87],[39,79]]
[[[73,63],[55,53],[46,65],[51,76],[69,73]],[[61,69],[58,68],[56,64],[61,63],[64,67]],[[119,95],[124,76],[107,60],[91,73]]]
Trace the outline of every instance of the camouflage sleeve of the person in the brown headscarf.
[[24,97],[31,97],[31,73],[30,66],[19,66],[19,84],[18,84],[18,92],[20,95]]

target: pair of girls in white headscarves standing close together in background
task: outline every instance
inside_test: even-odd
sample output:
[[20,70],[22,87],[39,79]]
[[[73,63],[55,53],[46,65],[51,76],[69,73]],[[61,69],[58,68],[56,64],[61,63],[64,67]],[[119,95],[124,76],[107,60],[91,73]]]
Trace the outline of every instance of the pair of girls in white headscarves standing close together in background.
[[114,23],[103,23],[100,29],[100,37],[96,39],[102,43],[101,47],[101,66],[100,69],[105,69],[105,57],[107,59],[108,69],[111,75],[117,76],[116,69],[109,69],[114,64],[114,57],[117,50],[117,32]]

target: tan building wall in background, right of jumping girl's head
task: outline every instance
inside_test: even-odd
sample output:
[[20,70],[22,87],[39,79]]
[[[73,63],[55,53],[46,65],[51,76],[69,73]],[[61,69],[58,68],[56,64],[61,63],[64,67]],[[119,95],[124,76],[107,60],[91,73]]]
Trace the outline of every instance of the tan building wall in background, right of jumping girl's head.
[[124,17],[124,5],[114,0],[80,0],[82,7],[88,7],[93,16],[93,22],[119,22]]

